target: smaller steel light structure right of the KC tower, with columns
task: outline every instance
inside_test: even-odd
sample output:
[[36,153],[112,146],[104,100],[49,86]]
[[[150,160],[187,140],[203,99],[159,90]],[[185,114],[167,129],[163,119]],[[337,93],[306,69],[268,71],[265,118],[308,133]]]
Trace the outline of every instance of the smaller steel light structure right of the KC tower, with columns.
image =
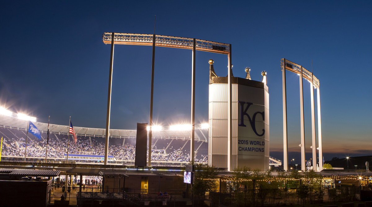
[[315,109],[314,109],[314,88],[317,88],[317,106],[318,106],[318,145],[319,145],[319,171],[323,170],[323,153],[322,153],[322,135],[321,135],[321,119],[320,119],[320,88],[319,80],[312,72],[308,71],[301,65],[286,59],[280,60],[282,69],[282,85],[283,85],[283,166],[284,170],[288,171],[288,127],[287,127],[287,94],[286,94],[286,70],[299,75],[300,89],[300,117],[301,117],[301,170],[305,170],[305,126],[304,126],[304,96],[302,80],[305,78],[311,85],[311,127],[312,127],[312,160],[313,169],[317,169],[316,155],[316,140],[315,140]]

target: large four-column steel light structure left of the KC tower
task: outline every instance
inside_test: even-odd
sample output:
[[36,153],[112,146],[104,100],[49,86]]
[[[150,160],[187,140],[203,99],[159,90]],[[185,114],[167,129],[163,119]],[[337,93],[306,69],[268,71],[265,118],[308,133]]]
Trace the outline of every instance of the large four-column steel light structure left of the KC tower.
[[[192,80],[191,80],[191,146],[190,146],[190,160],[194,160],[194,138],[195,138],[195,54],[196,50],[205,52],[214,52],[228,55],[228,170],[232,169],[232,154],[231,154],[231,140],[232,140],[232,67],[231,67],[231,44],[205,41],[195,38],[180,38],[173,36],[153,35],[148,34],[130,34],[130,33],[109,33],[105,32],[102,36],[102,41],[105,44],[111,44],[110,55],[110,75],[109,75],[109,90],[108,90],[108,106],[106,118],[106,142],[105,142],[105,165],[107,165],[108,156],[108,132],[110,123],[110,105],[111,105],[111,82],[112,82],[112,68],[113,68],[113,52],[114,45],[148,45],[153,46],[153,61],[152,61],[152,75],[151,75],[151,99],[150,99],[150,126],[152,126],[152,99],[153,99],[153,78],[154,78],[154,59],[155,46],[192,49]],[[149,146],[151,145],[152,131],[149,130]],[[151,166],[151,150],[148,156],[148,166]]]

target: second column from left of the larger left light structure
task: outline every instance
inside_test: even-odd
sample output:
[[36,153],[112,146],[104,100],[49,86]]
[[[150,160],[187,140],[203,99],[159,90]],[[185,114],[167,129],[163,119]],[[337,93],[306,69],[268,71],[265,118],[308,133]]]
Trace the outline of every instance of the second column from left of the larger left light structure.
[[154,100],[154,68],[155,68],[155,31],[153,35],[153,59],[151,63],[151,95],[150,95],[150,130],[148,131],[148,166],[151,166],[151,146],[153,138],[153,100]]

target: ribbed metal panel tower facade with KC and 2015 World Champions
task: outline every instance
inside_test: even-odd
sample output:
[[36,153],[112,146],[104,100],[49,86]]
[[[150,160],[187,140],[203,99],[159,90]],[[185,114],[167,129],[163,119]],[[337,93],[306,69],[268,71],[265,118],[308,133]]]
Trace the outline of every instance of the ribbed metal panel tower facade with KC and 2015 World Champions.
[[[266,85],[249,84],[232,84],[232,169],[263,171],[269,167],[269,93]],[[209,84],[208,164],[219,168],[227,168],[227,107],[227,84]]]

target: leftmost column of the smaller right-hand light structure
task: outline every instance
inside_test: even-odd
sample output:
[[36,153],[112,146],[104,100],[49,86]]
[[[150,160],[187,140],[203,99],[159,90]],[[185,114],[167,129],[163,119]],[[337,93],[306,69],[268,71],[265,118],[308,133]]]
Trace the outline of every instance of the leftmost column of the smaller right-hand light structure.
[[282,87],[283,87],[283,169],[288,171],[288,127],[287,127],[287,82],[285,75],[285,59],[283,58]]

